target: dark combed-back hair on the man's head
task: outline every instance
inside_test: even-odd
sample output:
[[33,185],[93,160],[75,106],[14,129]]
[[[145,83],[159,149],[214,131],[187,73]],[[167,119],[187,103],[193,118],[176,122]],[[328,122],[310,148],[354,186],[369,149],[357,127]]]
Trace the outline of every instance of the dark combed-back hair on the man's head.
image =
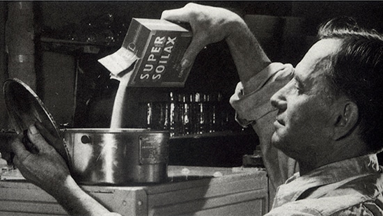
[[[343,28],[342,28],[343,24]],[[345,95],[358,107],[359,136],[370,153],[383,148],[383,37],[340,17],[322,25],[320,38],[341,39],[326,73],[331,93]]]

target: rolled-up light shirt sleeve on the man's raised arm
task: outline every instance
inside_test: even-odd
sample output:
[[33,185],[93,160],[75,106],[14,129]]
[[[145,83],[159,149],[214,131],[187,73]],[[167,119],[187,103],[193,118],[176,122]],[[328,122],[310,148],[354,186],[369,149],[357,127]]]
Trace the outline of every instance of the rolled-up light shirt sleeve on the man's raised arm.
[[259,137],[263,162],[272,186],[271,198],[274,197],[276,188],[299,169],[295,160],[271,145],[277,110],[269,100],[290,81],[293,73],[294,68],[290,64],[271,63],[247,83],[237,84],[235,93],[230,98],[237,122],[244,127],[251,125]]

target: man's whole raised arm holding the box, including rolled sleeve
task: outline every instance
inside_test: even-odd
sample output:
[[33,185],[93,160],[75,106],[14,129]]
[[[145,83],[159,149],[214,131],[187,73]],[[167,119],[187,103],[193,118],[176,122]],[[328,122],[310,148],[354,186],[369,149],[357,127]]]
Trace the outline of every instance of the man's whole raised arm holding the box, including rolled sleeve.
[[162,19],[192,26],[193,39],[183,57],[183,67],[189,67],[206,45],[226,40],[242,82],[230,102],[240,118],[253,123],[267,172],[275,187],[281,185],[294,172],[295,162],[270,144],[276,113],[269,98],[288,82],[292,68],[282,63],[271,64],[244,20],[230,10],[188,3],[180,9],[165,10]]

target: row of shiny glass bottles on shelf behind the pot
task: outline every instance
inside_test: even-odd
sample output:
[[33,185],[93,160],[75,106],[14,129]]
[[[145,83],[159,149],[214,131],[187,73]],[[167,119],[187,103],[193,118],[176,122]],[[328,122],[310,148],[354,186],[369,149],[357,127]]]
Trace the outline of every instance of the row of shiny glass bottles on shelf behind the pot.
[[221,93],[173,93],[169,100],[146,102],[146,125],[169,130],[171,136],[233,130],[234,110]]

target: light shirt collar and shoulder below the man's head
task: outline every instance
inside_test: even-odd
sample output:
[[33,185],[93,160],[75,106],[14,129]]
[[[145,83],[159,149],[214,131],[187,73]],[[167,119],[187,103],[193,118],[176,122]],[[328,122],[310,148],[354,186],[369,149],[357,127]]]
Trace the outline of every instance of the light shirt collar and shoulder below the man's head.
[[276,192],[274,215],[383,215],[383,171],[376,155],[334,162],[294,176]]

